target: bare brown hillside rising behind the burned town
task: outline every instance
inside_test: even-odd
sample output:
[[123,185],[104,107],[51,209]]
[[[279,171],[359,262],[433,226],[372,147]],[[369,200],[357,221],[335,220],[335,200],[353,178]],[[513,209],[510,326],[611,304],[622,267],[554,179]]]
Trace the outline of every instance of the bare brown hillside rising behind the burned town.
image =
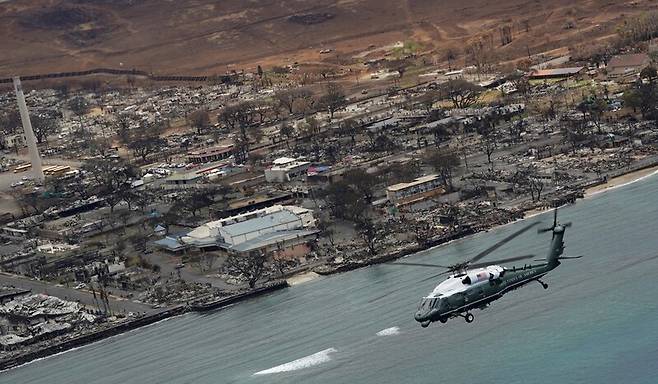
[[[257,63],[351,57],[419,43],[437,55],[508,26],[503,57],[614,33],[651,1],[616,0],[33,0],[0,1],[0,77],[93,67],[212,74]],[[333,53],[334,58],[336,53]]]

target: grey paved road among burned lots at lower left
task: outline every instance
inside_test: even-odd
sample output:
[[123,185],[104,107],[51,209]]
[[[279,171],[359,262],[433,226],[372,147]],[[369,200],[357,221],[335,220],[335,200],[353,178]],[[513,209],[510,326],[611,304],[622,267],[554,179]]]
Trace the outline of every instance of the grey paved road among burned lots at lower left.
[[[0,272],[0,285],[12,285],[17,288],[30,289],[32,293],[44,293],[60,299],[79,301],[81,304],[95,308],[94,295],[90,291],[67,288],[49,284],[39,280],[28,279],[5,272]],[[115,312],[152,312],[154,308],[148,304],[110,296],[110,307]]]

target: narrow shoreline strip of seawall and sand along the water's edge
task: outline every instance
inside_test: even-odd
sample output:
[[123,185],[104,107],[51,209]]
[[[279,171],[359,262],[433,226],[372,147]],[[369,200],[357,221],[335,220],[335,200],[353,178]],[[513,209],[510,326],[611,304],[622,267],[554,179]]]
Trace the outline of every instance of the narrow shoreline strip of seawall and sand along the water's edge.
[[[616,188],[629,185],[641,180],[644,180],[650,176],[653,176],[655,174],[658,174],[658,165],[653,165],[649,166],[646,168],[641,168],[633,171],[629,171],[627,173],[620,174],[616,177],[613,177],[609,179],[607,182],[599,182],[594,185],[591,185],[587,188],[584,189],[583,197],[581,199],[588,199],[590,197],[596,196],[600,193],[614,190]],[[578,199],[576,199],[577,202]],[[26,364],[30,364],[32,362],[35,362],[37,360],[45,359],[48,357],[52,357],[55,355],[60,355],[63,353],[66,353],[68,351],[84,347],[86,345],[90,345],[96,342],[103,341],[105,339],[109,339],[114,336],[118,336],[139,328],[143,328],[161,321],[164,321],[166,319],[184,315],[189,312],[207,312],[207,311],[212,311],[212,310],[220,310],[222,308],[226,308],[229,306],[232,306],[233,304],[239,303],[240,301],[248,300],[252,297],[260,296],[269,292],[273,292],[275,290],[283,289],[286,287],[298,285],[298,284],[303,284],[308,281],[316,280],[320,276],[327,276],[327,275],[333,275],[337,273],[342,273],[342,272],[347,272],[351,270],[356,270],[360,269],[363,267],[367,267],[369,265],[375,265],[375,264],[381,264],[381,263],[386,263],[390,262],[399,258],[403,258],[418,252],[426,251],[432,248],[440,247],[446,244],[449,244],[455,240],[463,239],[471,235],[476,235],[481,232],[486,232],[491,229],[501,227],[504,225],[507,225],[509,223],[514,223],[520,220],[525,220],[534,216],[537,216],[539,214],[542,214],[546,212],[548,209],[543,208],[543,207],[532,207],[526,210],[521,211],[522,212],[522,217],[516,220],[512,220],[508,223],[503,223],[503,224],[497,224],[492,226],[491,228],[487,229],[482,229],[478,231],[473,231],[473,230],[467,230],[467,231],[462,231],[462,232],[457,232],[453,233],[449,236],[446,237],[441,237],[441,238],[435,238],[432,241],[429,241],[428,244],[421,246],[421,245],[411,245],[407,248],[404,249],[398,249],[392,252],[384,253],[381,254],[377,257],[374,257],[372,259],[366,260],[364,262],[360,263],[355,263],[355,262],[350,262],[350,263],[345,263],[345,264],[339,264],[339,265],[327,265],[323,264],[320,267],[312,268],[310,270],[305,270],[301,271],[299,273],[295,273],[291,276],[289,276],[286,280],[281,281],[281,282],[274,282],[272,284],[265,285],[261,288],[222,298],[213,302],[209,303],[202,303],[202,304],[191,304],[188,306],[183,306],[183,305],[178,305],[178,306],[172,306],[170,308],[167,308],[164,311],[157,312],[155,314],[147,315],[145,317],[141,317],[135,320],[132,320],[130,322],[122,323],[117,326],[107,328],[104,330],[100,330],[97,332],[92,332],[86,335],[81,335],[77,338],[74,339],[69,339],[66,341],[63,341],[58,344],[53,344],[51,346],[48,346],[46,348],[42,348],[39,350],[27,352],[22,355],[18,355],[15,357],[12,357],[10,359],[2,360],[0,361],[0,372],[4,372],[7,370],[11,370],[14,368],[21,367]]]

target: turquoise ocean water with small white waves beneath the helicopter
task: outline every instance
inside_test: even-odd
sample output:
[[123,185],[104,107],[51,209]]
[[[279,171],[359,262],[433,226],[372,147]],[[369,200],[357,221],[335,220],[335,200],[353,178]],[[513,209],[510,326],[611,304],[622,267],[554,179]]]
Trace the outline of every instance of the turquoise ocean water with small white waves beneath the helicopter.
[[[565,207],[560,219],[574,222],[565,254],[586,256],[551,272],[548,290],[514,291],[472,324],[421,328],[413,311],[436,271],[376,266],[170,319],[1,373],[0,383],[658,383],[658,177]],[[412,259],[454,262],[520,225]],[[544,257],[549,240],[526,233],[492,257]]]

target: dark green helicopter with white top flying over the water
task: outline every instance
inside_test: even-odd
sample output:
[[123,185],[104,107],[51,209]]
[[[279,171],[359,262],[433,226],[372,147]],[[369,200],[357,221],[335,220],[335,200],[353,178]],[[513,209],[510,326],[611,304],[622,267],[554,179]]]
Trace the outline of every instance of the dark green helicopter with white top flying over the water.
[[[505,268],[498,264],[510,263],[534,258],[535,255],[524,255],[506,259],[495,260],[489,263],[475,263],[484,258],[502,245],[538,225],[532,223],[512,233],[498,243],[478,253],[471,259],[453,266],[437,264],[395,262],[394,265],[408,265],[431,268],[444,268],[445,272],[433,275],[428,279],[449,274],[449,277],[436,286],[426,297],[421,299],[414,319],[423,328],[432,322],[445,323],[450,318],[463,317],[467,323],[472,323],[475,317],[471,313],[474,309],[485,309],[493,301],[500,299],[504,294],[520,288],[530,282],[536,281],[544,289],[548,284],[541,280],[548,272],[560,265],[560,260],[579,259],[582,256],[562,256],[564,251],[564,233],[571,223],[560,224],[557,221],[557,208],[553,214],[553,225],[549,228],[539,229],[538,233],[551,231],[551,245],[546,259],[542,263],[523,267]],[[426,280],[428,280],[426,279]]]

